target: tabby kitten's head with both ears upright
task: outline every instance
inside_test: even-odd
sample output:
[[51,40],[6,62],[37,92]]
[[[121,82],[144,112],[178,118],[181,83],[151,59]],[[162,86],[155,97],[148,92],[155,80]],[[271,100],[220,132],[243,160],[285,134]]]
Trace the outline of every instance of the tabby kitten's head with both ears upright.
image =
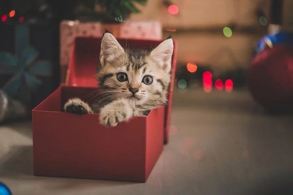
[[[152,51],[123,49],[105,32],[98,79],[111,100],[129,98],[135,104],[162,105],[167,101],[173,40],[166,39]],[[105,92],[106,93],[106,92]]]

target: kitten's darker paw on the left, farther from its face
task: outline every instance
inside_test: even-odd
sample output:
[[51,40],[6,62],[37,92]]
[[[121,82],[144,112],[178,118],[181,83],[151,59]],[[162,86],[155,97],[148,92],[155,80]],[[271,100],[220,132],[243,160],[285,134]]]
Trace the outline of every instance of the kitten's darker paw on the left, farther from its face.
[[80,98],[69,99],[64,105],[64,110],[66,113],[72,113],[76,115],[93,113],[89,105]]

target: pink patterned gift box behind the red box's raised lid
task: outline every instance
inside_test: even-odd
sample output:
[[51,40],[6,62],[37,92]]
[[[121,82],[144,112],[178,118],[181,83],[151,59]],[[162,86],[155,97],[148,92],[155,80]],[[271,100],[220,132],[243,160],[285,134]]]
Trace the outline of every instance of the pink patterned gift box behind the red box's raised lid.
[[123,21],[114,24],[63,20],[60,24],[61,81],[64,82],[75,38],[101,38],[109,30],[117,39],[162,39],[162,26],[158,21]]

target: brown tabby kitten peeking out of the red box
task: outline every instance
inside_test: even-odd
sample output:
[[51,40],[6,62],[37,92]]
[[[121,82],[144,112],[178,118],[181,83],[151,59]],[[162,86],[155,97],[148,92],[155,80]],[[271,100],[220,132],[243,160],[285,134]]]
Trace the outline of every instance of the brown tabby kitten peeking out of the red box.
[[133,116],[147,116],[151,109],[167,102],[172,54],[170,37],[152,51],[124,50],[105,31],[97,78],[99,93],[107,97],[92,107],[79,98],[69,99],[64,105],[65,112],[100,114],[100,123],[105,126],[116,126]]

